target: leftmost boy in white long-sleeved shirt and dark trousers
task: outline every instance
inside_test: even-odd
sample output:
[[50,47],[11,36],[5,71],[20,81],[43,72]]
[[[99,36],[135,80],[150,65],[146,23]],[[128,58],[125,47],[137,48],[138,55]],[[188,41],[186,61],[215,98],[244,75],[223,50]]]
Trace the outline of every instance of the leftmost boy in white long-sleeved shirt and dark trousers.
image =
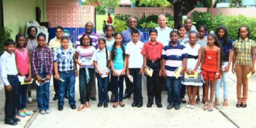
[[17,125],[21,121],[15,116],[16,100],[19,90],[18,70],[15,62],[15,42],[7,39],[4,42],[5,52],[1,56],[1,76],[5,86],[5,124]]

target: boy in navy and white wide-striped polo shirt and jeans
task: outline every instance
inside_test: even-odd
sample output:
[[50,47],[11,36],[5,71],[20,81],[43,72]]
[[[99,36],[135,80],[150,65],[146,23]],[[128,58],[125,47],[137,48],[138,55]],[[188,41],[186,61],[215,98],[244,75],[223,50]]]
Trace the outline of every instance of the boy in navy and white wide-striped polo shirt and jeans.
[[163,76],[166,77],[166,86],[168,87],[168,102],[167,109],[180,109],[180,90],[182,86],[182,77],[176,78],[174,72],[182,66],[182,70],[178,74],[183,75],[186,68],[186,61],[188,53],[186,53],[185,46],[178,43],[178,32],[170,32],[171,41],[162,50],[162,71]]

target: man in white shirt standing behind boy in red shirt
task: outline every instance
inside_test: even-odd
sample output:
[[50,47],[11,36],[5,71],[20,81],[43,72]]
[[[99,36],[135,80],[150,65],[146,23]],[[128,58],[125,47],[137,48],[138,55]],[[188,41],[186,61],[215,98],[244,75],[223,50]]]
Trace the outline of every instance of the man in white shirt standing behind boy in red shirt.
[[170,32],[172,29],[170,27],[166,26],[166,16],[165,15],[159,15],[158,16],[158,27],[156,27],[156,30],[158,31],[158,37],[156,40],[158,42],[161,42],[164,46],[168,45],[170,42]]

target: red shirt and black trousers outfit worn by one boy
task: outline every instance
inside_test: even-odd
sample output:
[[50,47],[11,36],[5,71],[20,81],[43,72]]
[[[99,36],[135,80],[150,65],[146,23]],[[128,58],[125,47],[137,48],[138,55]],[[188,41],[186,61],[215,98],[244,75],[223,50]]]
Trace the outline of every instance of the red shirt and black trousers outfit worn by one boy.
[[[148,101],[153,103],[155,96],[156,103],[161,103],[161,80],[159,72],[161,70],[161,55],[163,44],[156,41],[156,44],[152,44],[148,41],[142,48],[142,54],[146,56],[146,65],[154,70],[152,77],[147,77],[147,90],[148,90]],[[151,104],[152,104],[151,103]]]

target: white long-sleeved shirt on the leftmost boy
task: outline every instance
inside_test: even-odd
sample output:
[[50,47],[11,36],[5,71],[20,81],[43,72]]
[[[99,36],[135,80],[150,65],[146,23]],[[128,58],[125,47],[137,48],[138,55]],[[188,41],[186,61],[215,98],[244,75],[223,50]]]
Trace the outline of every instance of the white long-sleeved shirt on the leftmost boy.
[[1,56],[1,76],[3,84],[9,86],[10,83],[7,80],[7,75],[17,75],[18,70],[16,68],[15,54],[9,53],[5,50]]

